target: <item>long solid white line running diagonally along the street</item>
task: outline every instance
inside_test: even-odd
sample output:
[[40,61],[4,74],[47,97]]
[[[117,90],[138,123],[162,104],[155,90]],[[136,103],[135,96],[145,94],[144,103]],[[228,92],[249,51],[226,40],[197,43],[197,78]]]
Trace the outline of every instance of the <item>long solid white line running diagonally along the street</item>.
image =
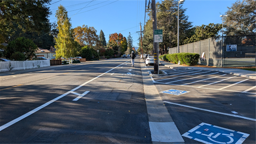
[[[128,60],[128,61],[129,61],[129,60]],[[126,61],[126,62],[127,62],[127,61]],[[124,63],[125,63],[125,62],[124,62]],[[122,63],[121,65],[123,65],[124,63]],[[121,66],[121,65],[118,65],[118,66],[114,67],[113,69],[115,69],[115,68],[117,68],[117,67],[119,67],[119,66]],[[104,75],[104,74],[107,74],[109,71],[111,71],[111,70],[113,70],[113,69],[110,69],[110,70],[108,70],[107,72],[105,72],[105,73],[103,73],[103,74],[101,74],[101,75],[99,75],[99,76],[97,76],[97,77],[94,77],[94,78],[91,79],[90,81],[87,81],[87,82],[85,82],[85,83],[83,83],[83,84],[77,86],[75,89],[73,89],[73,90],[71,90],[71,91],[68,91],[68,92],[66,92],[66,93],[64,93],[64,94],[62,94],[62,95],[60,95],[59,97],[57,97],[57,98],[55,98],[55,99],[53,99],[53,100],[51,100],[51,101],[49,101],[49,102],[44,103],[42,106],[39,106],[39,107],[37,107],[37,108],[35,108],[35,109],[29,111],[28,113],[26,113],[26,114],[24,114],[24,115],[22,115],[22,116],[20,116],[20,117],[18,117],[18,118],[16,118],[16,119],[13,119],[11,122],[6,123],[6,124],[0,126],[0,131],[4,130],[6,127],[9,127],[9,126],[13,125],[14,123],[19,122],[19,121],[20,121],[21,119],[23,119],[23,118],[26,118],[26,117],[30,116],[31,114],[36,113],[36,111],[38,111],[38,110],[40,110],[40,109],[42,109],[42,108],[44,108],[44,107],[50,105],[52,102],[57,101],[57,100],[59,100],[59,99],[62,98],[62,97],[65,97],[67,94],[69,94],[69,93],[71,93],[71,92],[74,92],[75,90],[79,89],[80,87],[86,85],[87,83],[92,82],[94,79],[97,79],[98,77],[101,77],[101,76]]]

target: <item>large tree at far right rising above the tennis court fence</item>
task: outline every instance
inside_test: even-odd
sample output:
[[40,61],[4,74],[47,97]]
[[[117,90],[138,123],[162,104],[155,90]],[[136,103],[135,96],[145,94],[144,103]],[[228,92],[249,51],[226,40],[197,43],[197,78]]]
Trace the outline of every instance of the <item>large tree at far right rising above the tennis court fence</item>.
[[224,32],[226,35],[256,34],[256,1],[243,0],[228,7]]

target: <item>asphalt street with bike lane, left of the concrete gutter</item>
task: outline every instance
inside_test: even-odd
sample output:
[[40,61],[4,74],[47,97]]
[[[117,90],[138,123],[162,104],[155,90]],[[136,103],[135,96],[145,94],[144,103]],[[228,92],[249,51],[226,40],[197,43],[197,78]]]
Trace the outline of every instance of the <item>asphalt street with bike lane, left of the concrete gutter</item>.
[[0,143],[151,143],[141,70],[129,59],[0,77]]

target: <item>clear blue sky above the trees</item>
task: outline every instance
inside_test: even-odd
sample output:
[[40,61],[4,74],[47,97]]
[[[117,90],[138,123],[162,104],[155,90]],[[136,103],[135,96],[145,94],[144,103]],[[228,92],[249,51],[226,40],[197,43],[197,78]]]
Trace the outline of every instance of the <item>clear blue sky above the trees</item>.
[[[150,1],[151,2],[151,1]],[[156,2],[159,2],[156,0]],[[222,23],[220,15],[227,12],[236,0],[186,0],[183,7],[193,26]],[[139,23],[144,25],[146,0],[52,0],[50,22],[57,22],[55,12],[61,4],[66,7],[72,27],[87,25],[100,34],[103,31],[108,42],[109,34],[121,33],[127,38],[132,34],[133,45],[138,46]],[[147,19],[147,14],[146,14]]]

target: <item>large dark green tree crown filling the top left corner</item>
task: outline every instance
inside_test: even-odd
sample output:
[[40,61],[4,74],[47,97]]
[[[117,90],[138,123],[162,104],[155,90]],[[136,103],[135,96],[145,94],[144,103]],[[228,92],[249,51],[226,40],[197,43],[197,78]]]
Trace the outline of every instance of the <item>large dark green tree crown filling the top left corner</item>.
[[[49,15],[51,0],[2,0],[0,3],[0,31],[6,42],[10,42],[10,36],[19,28],[23,33],[36,33],[37,35],[48,33],[50,22]],[[17,38],[17,37],[15,37]]]

